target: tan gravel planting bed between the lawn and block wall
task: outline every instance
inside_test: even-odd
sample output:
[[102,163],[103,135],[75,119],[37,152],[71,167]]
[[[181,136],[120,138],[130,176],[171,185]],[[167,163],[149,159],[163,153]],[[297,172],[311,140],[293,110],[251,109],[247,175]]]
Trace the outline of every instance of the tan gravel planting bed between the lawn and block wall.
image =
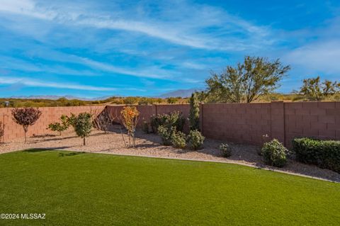
[[[125,140],[127,140],[127,137],[125,137]],[[23,139],[13,140],[12,142],[0,145],[0,153],[13,152],[22,149],[47,148],[79,152],[229,162],[340,182],[340,174],[334,171],[320,169],[317,166],[302,164],[293,160],[289,160],[288,165],[283,168],[268,167],[263,163],[261,156],[257,154],[257,149],[259,149],[259,147],[251,145],[229,143],[233,150],[232,157],[224,158],[220,156],[220,151],[218,149],[222,141],[206,139],[203,149],[192,151],[161,145],[159,136],[137,131],[135,141],[136,146],[135,148],[128,149],[125,148],[123,137],[118,126],[114,126],[111,128],[111,132],[107,132],[106,134],[102,131],[94,130],[91,132],[91,136],[87,138],[86,142],[87,145],[83,146],[82,140],[77,137],[73,131],[69,130],[64,132],[62,136],[46,134],[37,137],[29,137],[28,143],[26,144],[23,143]]]

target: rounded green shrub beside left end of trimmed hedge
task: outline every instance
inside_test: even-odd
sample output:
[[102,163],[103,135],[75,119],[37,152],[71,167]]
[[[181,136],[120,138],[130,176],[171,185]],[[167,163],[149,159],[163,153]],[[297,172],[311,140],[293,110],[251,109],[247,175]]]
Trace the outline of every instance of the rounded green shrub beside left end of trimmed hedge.
[[264,162],[268,165],[283,167],[287,163],[288,149],[276,139],[264,143],[261,152]]

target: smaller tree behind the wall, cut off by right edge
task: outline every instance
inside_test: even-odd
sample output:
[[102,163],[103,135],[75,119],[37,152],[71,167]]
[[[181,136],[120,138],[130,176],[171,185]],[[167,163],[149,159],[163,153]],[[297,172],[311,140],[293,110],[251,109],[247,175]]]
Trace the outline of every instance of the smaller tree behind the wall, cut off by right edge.
[[310,101],[322,101],[322,99],[339,93],[340,83],[329,80],[320,81],[320,77],[304,79],[299,94]]

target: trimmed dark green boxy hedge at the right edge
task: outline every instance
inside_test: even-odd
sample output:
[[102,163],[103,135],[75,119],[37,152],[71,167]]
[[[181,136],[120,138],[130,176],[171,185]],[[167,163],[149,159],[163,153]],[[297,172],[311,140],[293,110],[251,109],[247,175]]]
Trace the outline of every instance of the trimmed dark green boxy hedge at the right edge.
[[293,152],[299,162],[315,164],[340,173],[340,141],[295,138]]

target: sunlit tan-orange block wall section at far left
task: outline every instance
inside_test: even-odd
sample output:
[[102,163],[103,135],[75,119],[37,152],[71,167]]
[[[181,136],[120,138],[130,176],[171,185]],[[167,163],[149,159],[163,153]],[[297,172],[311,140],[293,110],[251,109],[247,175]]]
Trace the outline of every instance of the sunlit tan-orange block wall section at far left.
[[[42,115],[35,123],[35,125],[32,125],[30,126],[30,128],[28,128],[28,136],[50,133],[49,130],[46,130],[47,126],[50,123],[55,123],[59,121],[61,115],[71,115],[71,113],[79,114],[82,112],[91,112],[98,114],[103,111],[103,108],[105,108],[105,106],[39,108],[39,110],[42,112]],[[12,109],[13,108],[0,108],[0,121],[4,123],[5,131],[3,137],[4,142],[24,137],[22,126],[14,123],[12,120]]]

